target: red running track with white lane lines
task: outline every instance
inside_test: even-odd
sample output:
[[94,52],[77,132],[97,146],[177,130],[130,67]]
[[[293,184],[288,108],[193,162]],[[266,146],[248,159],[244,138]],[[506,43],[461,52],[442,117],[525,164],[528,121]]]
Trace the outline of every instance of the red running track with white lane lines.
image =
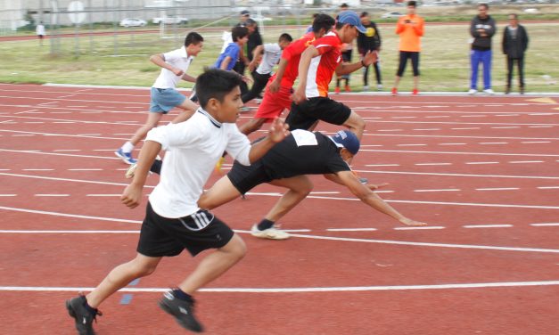
[[[354,168],[429,225],[406,229],[313,176],[281,222],[293,238],[262,241],[246,231],[282,190],[261,185],[215,210],[249,252],[197,294],[207,332],[557,333],[559,97],[334,98],[366,118]],[[126,166],[112,151],[148,102],[147,90],[0,85],[0,333],[73,334],[64,300],[134,257],[144,208],[119,204]],[[109,298],[95,329],[181,331],[156,301],[197,262],[166,259]]]

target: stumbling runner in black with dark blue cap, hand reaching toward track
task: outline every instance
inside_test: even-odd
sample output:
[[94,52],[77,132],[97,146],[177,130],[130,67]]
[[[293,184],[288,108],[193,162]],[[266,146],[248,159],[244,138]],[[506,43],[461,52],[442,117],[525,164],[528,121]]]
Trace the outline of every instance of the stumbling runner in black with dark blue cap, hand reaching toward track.
[[305,175],[324,175],[326,179],[346,186],[359,200],[403,225],[425,225],[404,217],[382,200],[372,191],[379,186],[359,182],[347,163],[358,150],[359,140],[349,130],[341,130],[333,136],[302,129],[294,130],[250,167],[235,161],[231,171],[201,195],[198,206],[208,210],[217,208],[239,198],[259,184],[285,187],[289,190],[277,200],[260,223],[251,228],[253,236],[285,240],[289,238],[289,233],[275,228],[275,222],[312,191],[313,184]]

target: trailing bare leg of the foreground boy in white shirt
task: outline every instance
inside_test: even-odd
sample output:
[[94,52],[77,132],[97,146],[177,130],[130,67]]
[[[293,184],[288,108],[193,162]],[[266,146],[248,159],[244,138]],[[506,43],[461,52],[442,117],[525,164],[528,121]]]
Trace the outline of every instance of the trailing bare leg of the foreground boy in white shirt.
[[112,293],[127,286],[129,282],[152,274],[160,260],[161,257],[147,257],[137,254],[133,260],[115,267],[95,290],[86,295],[87,304],[97,308],[104,299],[109,298]]

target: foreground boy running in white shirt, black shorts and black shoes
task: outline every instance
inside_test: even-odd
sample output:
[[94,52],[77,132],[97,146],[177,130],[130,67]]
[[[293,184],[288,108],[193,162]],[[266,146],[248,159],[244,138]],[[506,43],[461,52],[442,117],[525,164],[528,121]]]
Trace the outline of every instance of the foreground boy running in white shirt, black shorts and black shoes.
[[100,314],[97,307],[103,300],[136,278],[152,274],[162,257],[177,256],[184,249],[193,256],[217,249],[159,302],[185,329],[203,331],[193,315],[193,293],[224,274],[246,252],[241,237],[208,210],[198,207],[203,185],[223,151],[250,165],[290,134],[284,122],[276,118],[267,137],[251,146],[235,125],[243,106],[241,82],[242,78],[232,71],[206,70],[196,80],[201,108],[185,122],[153,128],[147,135],[134,179],[120,197],[128,208],[140,204],[149,168],[158,152],[163,149],[167,154],[160,183],[149,196],[136,257],[115,267],[86,296],[66,301],[80,334],[94,333],[92,323]]

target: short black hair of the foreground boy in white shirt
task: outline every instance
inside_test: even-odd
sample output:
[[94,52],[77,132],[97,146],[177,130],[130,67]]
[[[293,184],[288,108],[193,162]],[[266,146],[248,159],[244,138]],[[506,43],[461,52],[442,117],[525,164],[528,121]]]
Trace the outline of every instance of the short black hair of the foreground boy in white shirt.
[[225,96],[241,86],[243,78],[233,71],[225,69],[205,69],[196,79],[196,95],[201,108],[206,108],[210,99],[223,102]]

